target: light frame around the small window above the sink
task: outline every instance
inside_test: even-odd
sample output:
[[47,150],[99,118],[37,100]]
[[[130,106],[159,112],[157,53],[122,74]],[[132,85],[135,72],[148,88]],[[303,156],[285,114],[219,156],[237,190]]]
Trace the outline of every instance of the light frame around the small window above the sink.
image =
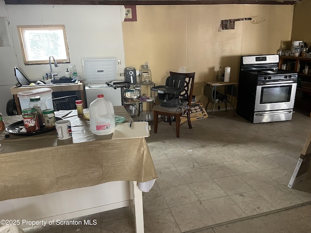
[[[64,39],[64,46],[63,48],[66,51],[66,58],[58,58],[57,54],[47,54],[46,59],[42,60],[32,60],[29,58],[28,50],[31,48],[27,47],[27,38],[24,36],[25,32],[29,32],[31,30],[62,30],[63,32],[63,39]],[[70,63],[70,58],[69,58],[69,49],[68,49],[68,43],[67,43],[67,37],[66,37],[66,31],[65,31],[65,25],[17,25],[17,31],[18,31],[18,36],[19,36],[19,41],[20,41],[20,47],[22,50],[22,55],[24,59],[24,64],[25,65],[38,65],[38,64],[49,64],[49,57],[53,56],[57,63]],[[45,48],[42,48],[43,50]]]

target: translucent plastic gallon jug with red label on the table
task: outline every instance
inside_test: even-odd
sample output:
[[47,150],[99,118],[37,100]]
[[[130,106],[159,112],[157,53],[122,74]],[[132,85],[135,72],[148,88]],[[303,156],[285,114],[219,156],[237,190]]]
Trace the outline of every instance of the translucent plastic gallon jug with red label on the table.
[[90,130],[97,135],[115,132],[116,122],[113,105],[104,99],[104,95],[97,95],[97,99],[89,105]]

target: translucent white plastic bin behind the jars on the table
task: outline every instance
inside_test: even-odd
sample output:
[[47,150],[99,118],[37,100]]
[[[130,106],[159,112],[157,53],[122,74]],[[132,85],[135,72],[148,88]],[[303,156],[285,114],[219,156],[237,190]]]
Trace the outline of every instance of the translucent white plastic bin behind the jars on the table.
[[17,97],[19,99],[21,110],[29,108],[30,97],[39,96],[41,101],[46,105],[47,108],[53,108],[52,102],[52,89],[43,87],[30,91],[18,92]]

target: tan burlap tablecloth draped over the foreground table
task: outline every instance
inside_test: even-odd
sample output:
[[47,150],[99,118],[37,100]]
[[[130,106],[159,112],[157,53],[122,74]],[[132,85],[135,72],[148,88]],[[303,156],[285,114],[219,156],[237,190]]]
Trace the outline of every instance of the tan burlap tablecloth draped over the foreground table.
[[[68,117],[72,140],[55,131],[34,135],[0,135],[0,200],[30,197],[111,181],[147,182],[157,178],[145,138],[111,140],[89,132],[89,122]],[[123,107],[115,114],[130,116]],[[4,123],[21,116],[3,117]]]

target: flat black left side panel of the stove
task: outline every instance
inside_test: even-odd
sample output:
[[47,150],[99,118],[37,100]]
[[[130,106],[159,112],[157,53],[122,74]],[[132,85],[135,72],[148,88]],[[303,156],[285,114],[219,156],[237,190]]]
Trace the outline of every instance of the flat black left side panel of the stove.
[[237,114],[246,120],[254,121],[257,77],[247,71],[240,71]]

